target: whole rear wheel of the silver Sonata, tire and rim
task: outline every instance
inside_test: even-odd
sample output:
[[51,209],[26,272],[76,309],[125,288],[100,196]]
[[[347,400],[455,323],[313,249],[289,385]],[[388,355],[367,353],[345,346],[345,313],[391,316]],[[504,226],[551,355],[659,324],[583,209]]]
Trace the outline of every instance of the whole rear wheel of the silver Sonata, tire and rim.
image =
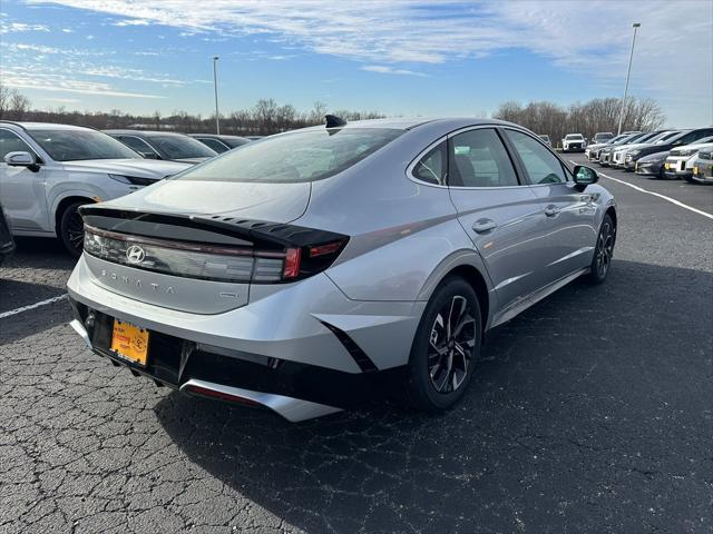
[[472,286],[458,276],[441,281],[411,347],[407,384],[411,405],[438,414],[461,399],[480,356],[481,325]]

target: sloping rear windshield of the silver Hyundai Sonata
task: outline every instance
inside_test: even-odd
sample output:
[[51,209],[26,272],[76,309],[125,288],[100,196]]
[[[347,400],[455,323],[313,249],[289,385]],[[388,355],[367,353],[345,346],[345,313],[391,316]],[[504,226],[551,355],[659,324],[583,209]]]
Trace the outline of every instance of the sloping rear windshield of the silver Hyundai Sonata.
[[177,180],[315,181],[348,169],[392,141],[402,130],[344,128],[268,137],[195,167]]

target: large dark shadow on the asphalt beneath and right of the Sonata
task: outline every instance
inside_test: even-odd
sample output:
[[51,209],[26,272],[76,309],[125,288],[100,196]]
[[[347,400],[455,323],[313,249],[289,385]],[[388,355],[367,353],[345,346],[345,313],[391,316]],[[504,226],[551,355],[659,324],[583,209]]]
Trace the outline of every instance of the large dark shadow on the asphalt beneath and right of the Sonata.
[[641,531],[657,500],[682,502],[654,474],[688,473],[713,439],[712,299],[711,273],[616,260],[603,286],[492,332],[440,416],[385,404],[290,424],[180,394],[155,412],[193,463],[306,532]]

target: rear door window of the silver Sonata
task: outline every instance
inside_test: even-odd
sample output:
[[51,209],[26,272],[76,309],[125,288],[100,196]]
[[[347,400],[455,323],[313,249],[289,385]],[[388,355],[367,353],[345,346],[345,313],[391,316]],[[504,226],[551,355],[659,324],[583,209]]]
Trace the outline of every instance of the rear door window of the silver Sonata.
[[448,142],[449,185],[460,187],[518,186],[512,161],[491,128],[465,131]]

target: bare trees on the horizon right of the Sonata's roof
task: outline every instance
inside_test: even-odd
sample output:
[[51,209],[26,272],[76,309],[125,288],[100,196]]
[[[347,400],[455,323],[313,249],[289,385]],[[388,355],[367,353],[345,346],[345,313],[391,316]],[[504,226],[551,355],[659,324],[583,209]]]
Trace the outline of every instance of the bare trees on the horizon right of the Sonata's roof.
[[[585,103],[564,108],[553,102],[508,101],[500,105],[494,118],[516,122],[535,134],[546,134],[553,146],[561,142],[567,134],[582,134],[592,140],[598,131],[616,135],[622,111],[619,98],[595,98]],[[658,103],[649,98],[627,98],[624,106],[622,131],[655,130],[663,126],[665,117]]]

